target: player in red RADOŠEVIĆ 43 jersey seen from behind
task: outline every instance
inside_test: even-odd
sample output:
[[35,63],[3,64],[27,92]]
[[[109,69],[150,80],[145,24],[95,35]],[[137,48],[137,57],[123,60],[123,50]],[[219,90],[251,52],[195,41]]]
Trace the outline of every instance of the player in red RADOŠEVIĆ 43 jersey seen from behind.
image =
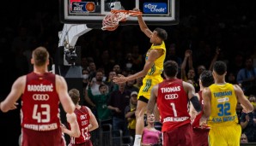
[[[31,63],[34,71],[15,80],[9,95],[0,103],[0,109],[8,112],[17,108],[16,101],[21,97],[21,146],[65,146],[58,116],[59,102],[67,114],[74,114],[75,110],[66,81],[47,71],[49,53],[46,48],[36,48]],[[76,122],[76,119],[71,121]]]

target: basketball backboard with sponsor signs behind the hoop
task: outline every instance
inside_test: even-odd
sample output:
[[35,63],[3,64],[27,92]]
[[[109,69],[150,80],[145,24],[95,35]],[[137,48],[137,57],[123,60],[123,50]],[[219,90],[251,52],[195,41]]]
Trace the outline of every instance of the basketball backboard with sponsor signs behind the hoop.
[[[101,24],[111,9],[143,13],[147,25],[174,25],[179,23],[179,0],[60,0],[59,15],[66,24]],[[137,24],[137,17],[128,17],[119,25]]]

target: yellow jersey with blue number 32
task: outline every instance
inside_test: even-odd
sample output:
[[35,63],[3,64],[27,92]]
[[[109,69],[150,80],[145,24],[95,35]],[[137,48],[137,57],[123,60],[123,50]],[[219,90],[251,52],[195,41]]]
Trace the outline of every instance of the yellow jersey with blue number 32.
[[210,85],[211,113],[209,126],[230,126],[238,123],[235,107],[237,99],[232,84]]

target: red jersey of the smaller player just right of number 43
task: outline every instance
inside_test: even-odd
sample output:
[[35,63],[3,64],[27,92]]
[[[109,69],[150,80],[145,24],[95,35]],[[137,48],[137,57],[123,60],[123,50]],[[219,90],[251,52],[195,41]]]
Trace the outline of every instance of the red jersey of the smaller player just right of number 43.
[[88,131],[88,125],[90,120],[90,115],[88,109],[85,106],[82,106],[80,109],[76,108],[75,112],[77,123],[81,132],[80,137],[70,137],[70,144],[85,143],[90,139],[90,133]]

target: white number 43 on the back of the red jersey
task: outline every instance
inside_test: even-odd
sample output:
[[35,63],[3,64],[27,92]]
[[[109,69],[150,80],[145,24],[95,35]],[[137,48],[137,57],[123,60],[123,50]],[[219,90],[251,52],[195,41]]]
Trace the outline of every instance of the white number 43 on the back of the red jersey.
[[[50,121],[50,106],[49,104],[41,104],[40,108],[45,109],[38,112],[38,104],[34,105],[32,118],[37,120],[38,123],[47,123]],[[42,118],[42,115],[46,118]]]

